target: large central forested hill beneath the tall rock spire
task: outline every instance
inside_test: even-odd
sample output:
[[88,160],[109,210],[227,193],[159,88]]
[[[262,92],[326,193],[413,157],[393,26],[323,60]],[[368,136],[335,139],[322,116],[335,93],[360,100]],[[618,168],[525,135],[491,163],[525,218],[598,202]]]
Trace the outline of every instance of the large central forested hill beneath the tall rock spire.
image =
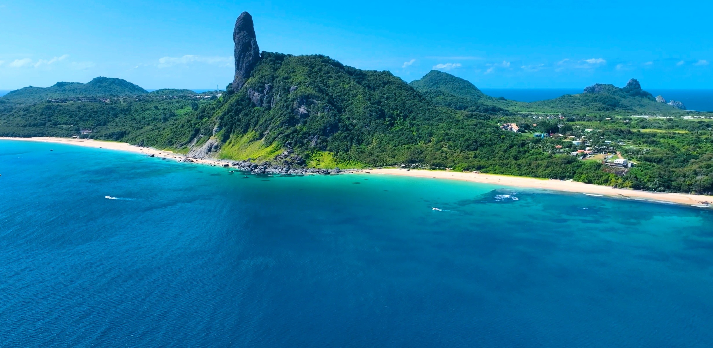
[[483,147],[520,142],[486,115],[434,105],[389,72],[325,56],[264,52],[245,86],[198,118],[201,141],[215,133],[225,144],[219,155],[237,159],[289,146],[342,166],[454,167]]

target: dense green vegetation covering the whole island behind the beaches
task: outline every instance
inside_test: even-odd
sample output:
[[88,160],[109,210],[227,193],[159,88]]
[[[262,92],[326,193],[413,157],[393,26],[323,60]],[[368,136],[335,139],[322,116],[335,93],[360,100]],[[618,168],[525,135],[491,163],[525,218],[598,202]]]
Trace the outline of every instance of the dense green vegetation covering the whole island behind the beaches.
[[[240,90],[229,86],[220,97],[104,81],[0,97],[0,135],[80,135],[180,152],[212,139],[220,147],[210,155],[220,158],[261,162],[292,149],[314,167],[449,168],[713,194],[712,119],[681,117],[711,115],[656,102],[637,83],[524,103],[437,71],[409,85],[326,56],[267,52]],[[67,99],[89,95],[104,99]],[[518,131],[501,129],[506,123]],[[637,165],[570,154],[587,148],[620,152]]]

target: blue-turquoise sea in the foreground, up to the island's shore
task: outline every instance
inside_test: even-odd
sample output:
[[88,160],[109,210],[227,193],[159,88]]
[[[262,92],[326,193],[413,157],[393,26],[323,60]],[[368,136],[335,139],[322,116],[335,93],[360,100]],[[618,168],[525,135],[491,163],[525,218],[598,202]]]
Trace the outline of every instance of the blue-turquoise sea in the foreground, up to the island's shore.
[[713,342],[711,211],[1,140],[0,174],[0,347]]

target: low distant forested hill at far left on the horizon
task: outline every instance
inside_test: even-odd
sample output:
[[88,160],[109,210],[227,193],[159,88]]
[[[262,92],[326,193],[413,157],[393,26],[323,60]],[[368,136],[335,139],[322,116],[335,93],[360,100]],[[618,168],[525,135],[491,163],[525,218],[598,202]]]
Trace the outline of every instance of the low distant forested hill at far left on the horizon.
[[138,85],[120,78],[98,77],[88,83],[58,82],[50,87],[26,87],[14,90],[1,98],[4,100],[40,102],[48,98],[68,97],[118,97],[146,94]]

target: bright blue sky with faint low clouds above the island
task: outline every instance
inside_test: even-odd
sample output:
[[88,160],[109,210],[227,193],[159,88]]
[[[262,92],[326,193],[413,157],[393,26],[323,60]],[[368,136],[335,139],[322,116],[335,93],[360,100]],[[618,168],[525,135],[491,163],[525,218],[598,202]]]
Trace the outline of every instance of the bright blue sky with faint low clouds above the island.
[[480,88],[713,88],[711,1],[0,0],[0,89],[98,75],[224,88],[241,11],[262,51],[406,81],[438,69]]

